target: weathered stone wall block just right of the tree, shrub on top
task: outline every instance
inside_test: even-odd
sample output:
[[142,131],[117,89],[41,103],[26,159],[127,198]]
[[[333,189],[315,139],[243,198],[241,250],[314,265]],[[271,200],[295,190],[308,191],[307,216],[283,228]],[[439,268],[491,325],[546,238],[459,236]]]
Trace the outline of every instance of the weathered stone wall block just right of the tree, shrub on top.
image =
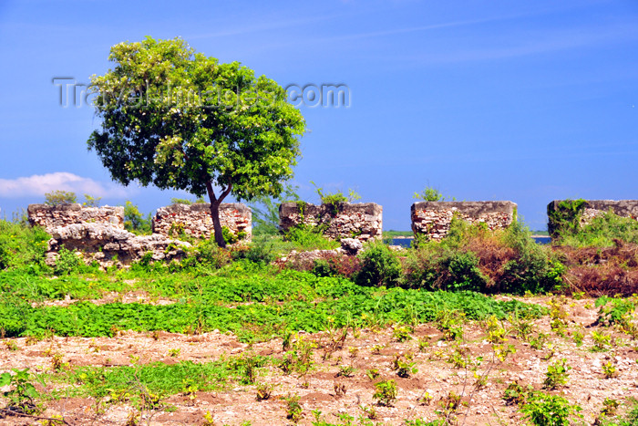
[[361,241],[382,238],[383,208],[376,203],[282,203],[279,227],[287,232],[300,223],[324,226],[324,235],[333,240],[356,238]]

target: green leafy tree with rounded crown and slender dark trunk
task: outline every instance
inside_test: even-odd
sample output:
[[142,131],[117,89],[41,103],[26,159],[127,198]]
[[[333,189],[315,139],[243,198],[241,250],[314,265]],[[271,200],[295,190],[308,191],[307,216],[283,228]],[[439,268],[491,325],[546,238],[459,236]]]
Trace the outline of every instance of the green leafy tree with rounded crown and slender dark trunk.
[[293,176],[305,121],[270,78],[221,64],[175,38],[119,43],[104,76],[91,78],[101,129],[89,140],[111,177],[208,194],[215,241],[219,208],[277,196]]

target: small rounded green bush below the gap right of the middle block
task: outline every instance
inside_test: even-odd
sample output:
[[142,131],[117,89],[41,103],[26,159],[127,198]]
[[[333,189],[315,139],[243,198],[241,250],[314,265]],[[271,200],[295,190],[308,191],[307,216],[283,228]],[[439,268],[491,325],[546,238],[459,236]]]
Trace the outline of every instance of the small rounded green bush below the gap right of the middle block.
[[392,250],[382,242],[367,244],[359,254],[361,271],[355,275],[360,286],[395,286],[401,274],[401,265]]

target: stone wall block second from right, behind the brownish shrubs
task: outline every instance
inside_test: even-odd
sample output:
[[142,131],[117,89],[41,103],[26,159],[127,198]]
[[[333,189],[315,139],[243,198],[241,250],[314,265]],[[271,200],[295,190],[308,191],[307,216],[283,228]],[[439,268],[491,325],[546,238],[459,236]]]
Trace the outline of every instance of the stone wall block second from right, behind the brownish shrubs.
[[419,202],[412,204],[412,231],[440,240],[448,234],[454,214],[469,223],[485,223],[490,230],[512,223],[517,205],[512,202]]

